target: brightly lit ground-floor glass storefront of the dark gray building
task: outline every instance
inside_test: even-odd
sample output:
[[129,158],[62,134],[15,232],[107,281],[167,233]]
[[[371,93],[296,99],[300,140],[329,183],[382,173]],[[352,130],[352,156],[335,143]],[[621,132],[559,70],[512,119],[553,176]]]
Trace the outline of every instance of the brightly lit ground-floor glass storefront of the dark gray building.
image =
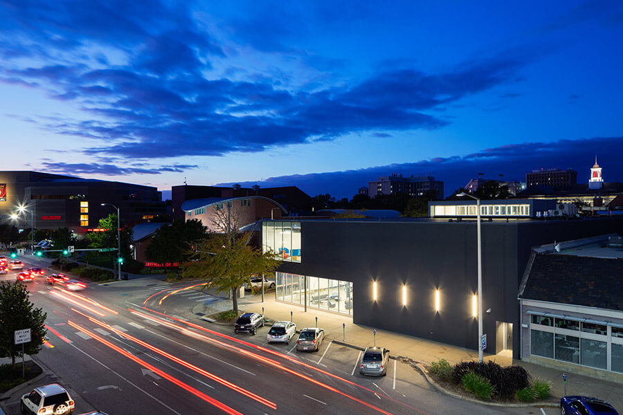
[[288,273],[276,273],[276,278],[280,301],[305,305],[307,287],[308,308],[352,314],[352,282]]

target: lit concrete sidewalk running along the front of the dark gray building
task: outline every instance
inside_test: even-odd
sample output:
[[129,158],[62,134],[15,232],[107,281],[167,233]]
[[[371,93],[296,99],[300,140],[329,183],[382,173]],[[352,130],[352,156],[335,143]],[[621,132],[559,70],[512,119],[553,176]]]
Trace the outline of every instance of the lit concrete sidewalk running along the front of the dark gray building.
[[[315,308],[308,307],[307,313],[305,313],[301,306],[277,302],[274,293],[264,295],[264,303],[261,302],[260,295],[246,295],[238,300],[238,306],[241,310],[248,312],[262,313],[263,311],[264,315],[273,321],[290,321],[291,315],[291,321],[296,323],[296,327],[299,330],[305,327],[316,326],[317,317],[318,326],[325,330],[325,337],[330,340],[345,342],[352,347],[361,349],[374,345],[373,327],[354,324],[352,317],[347,315],[329,313]],[[437,343],[379,329],[377,329],[376,344],[377,346],[390,349],[392,356],[409,358],[424,365],[429,365],[431,362],[442,358],[448,360],[451,365],[462,360],[478,360],[478,351],[476,350],[463,349],[449,344]],[[485,353],[485,362],[487,360],[494,360],[501,366],[521,365],[532,378],[541,378],[552,382],[552,398],[548,401],[550,403],[558,403],[560,398],[565,395],[565,387],[562,380],[563,371],[561,370],[523,362],[522,360],[513,360],[510,357]],[[619,412],[623,411],[622,384],[572,374],[570,371],[564,373],[567,374],[567,395],[594,396],[608,400]]]

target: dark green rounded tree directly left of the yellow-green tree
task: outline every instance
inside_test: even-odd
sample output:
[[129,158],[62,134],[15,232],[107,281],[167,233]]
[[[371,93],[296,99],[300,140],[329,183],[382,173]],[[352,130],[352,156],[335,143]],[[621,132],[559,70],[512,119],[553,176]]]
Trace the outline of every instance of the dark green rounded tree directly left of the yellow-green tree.
[[191,246],[206,238],[206,227],[201,221],[178,219],[171,225],[163,224],[156,230],[145,255],[152,261],[183,262],[190,257]]

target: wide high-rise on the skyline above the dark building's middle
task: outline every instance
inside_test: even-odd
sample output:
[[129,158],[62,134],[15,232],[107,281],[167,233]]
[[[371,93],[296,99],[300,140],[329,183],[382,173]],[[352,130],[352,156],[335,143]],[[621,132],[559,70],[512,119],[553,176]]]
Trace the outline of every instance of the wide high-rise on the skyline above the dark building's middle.
[[421,197],[430,190],[437,192],[438,198],[444,197],[444,182],[435,181],[433,176],[403,177],[394,173],[391,176],[379,177],[377,181],[368,182],[368,196],[379,194],[408,194],[411,197]]

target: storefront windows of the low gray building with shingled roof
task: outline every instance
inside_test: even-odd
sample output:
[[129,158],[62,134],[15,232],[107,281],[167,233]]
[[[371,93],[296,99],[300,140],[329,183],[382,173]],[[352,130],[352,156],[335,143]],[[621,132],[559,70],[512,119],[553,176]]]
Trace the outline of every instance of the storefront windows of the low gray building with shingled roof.
[[530,323],[530,354],[623,373],[623,328],[534,314]]

